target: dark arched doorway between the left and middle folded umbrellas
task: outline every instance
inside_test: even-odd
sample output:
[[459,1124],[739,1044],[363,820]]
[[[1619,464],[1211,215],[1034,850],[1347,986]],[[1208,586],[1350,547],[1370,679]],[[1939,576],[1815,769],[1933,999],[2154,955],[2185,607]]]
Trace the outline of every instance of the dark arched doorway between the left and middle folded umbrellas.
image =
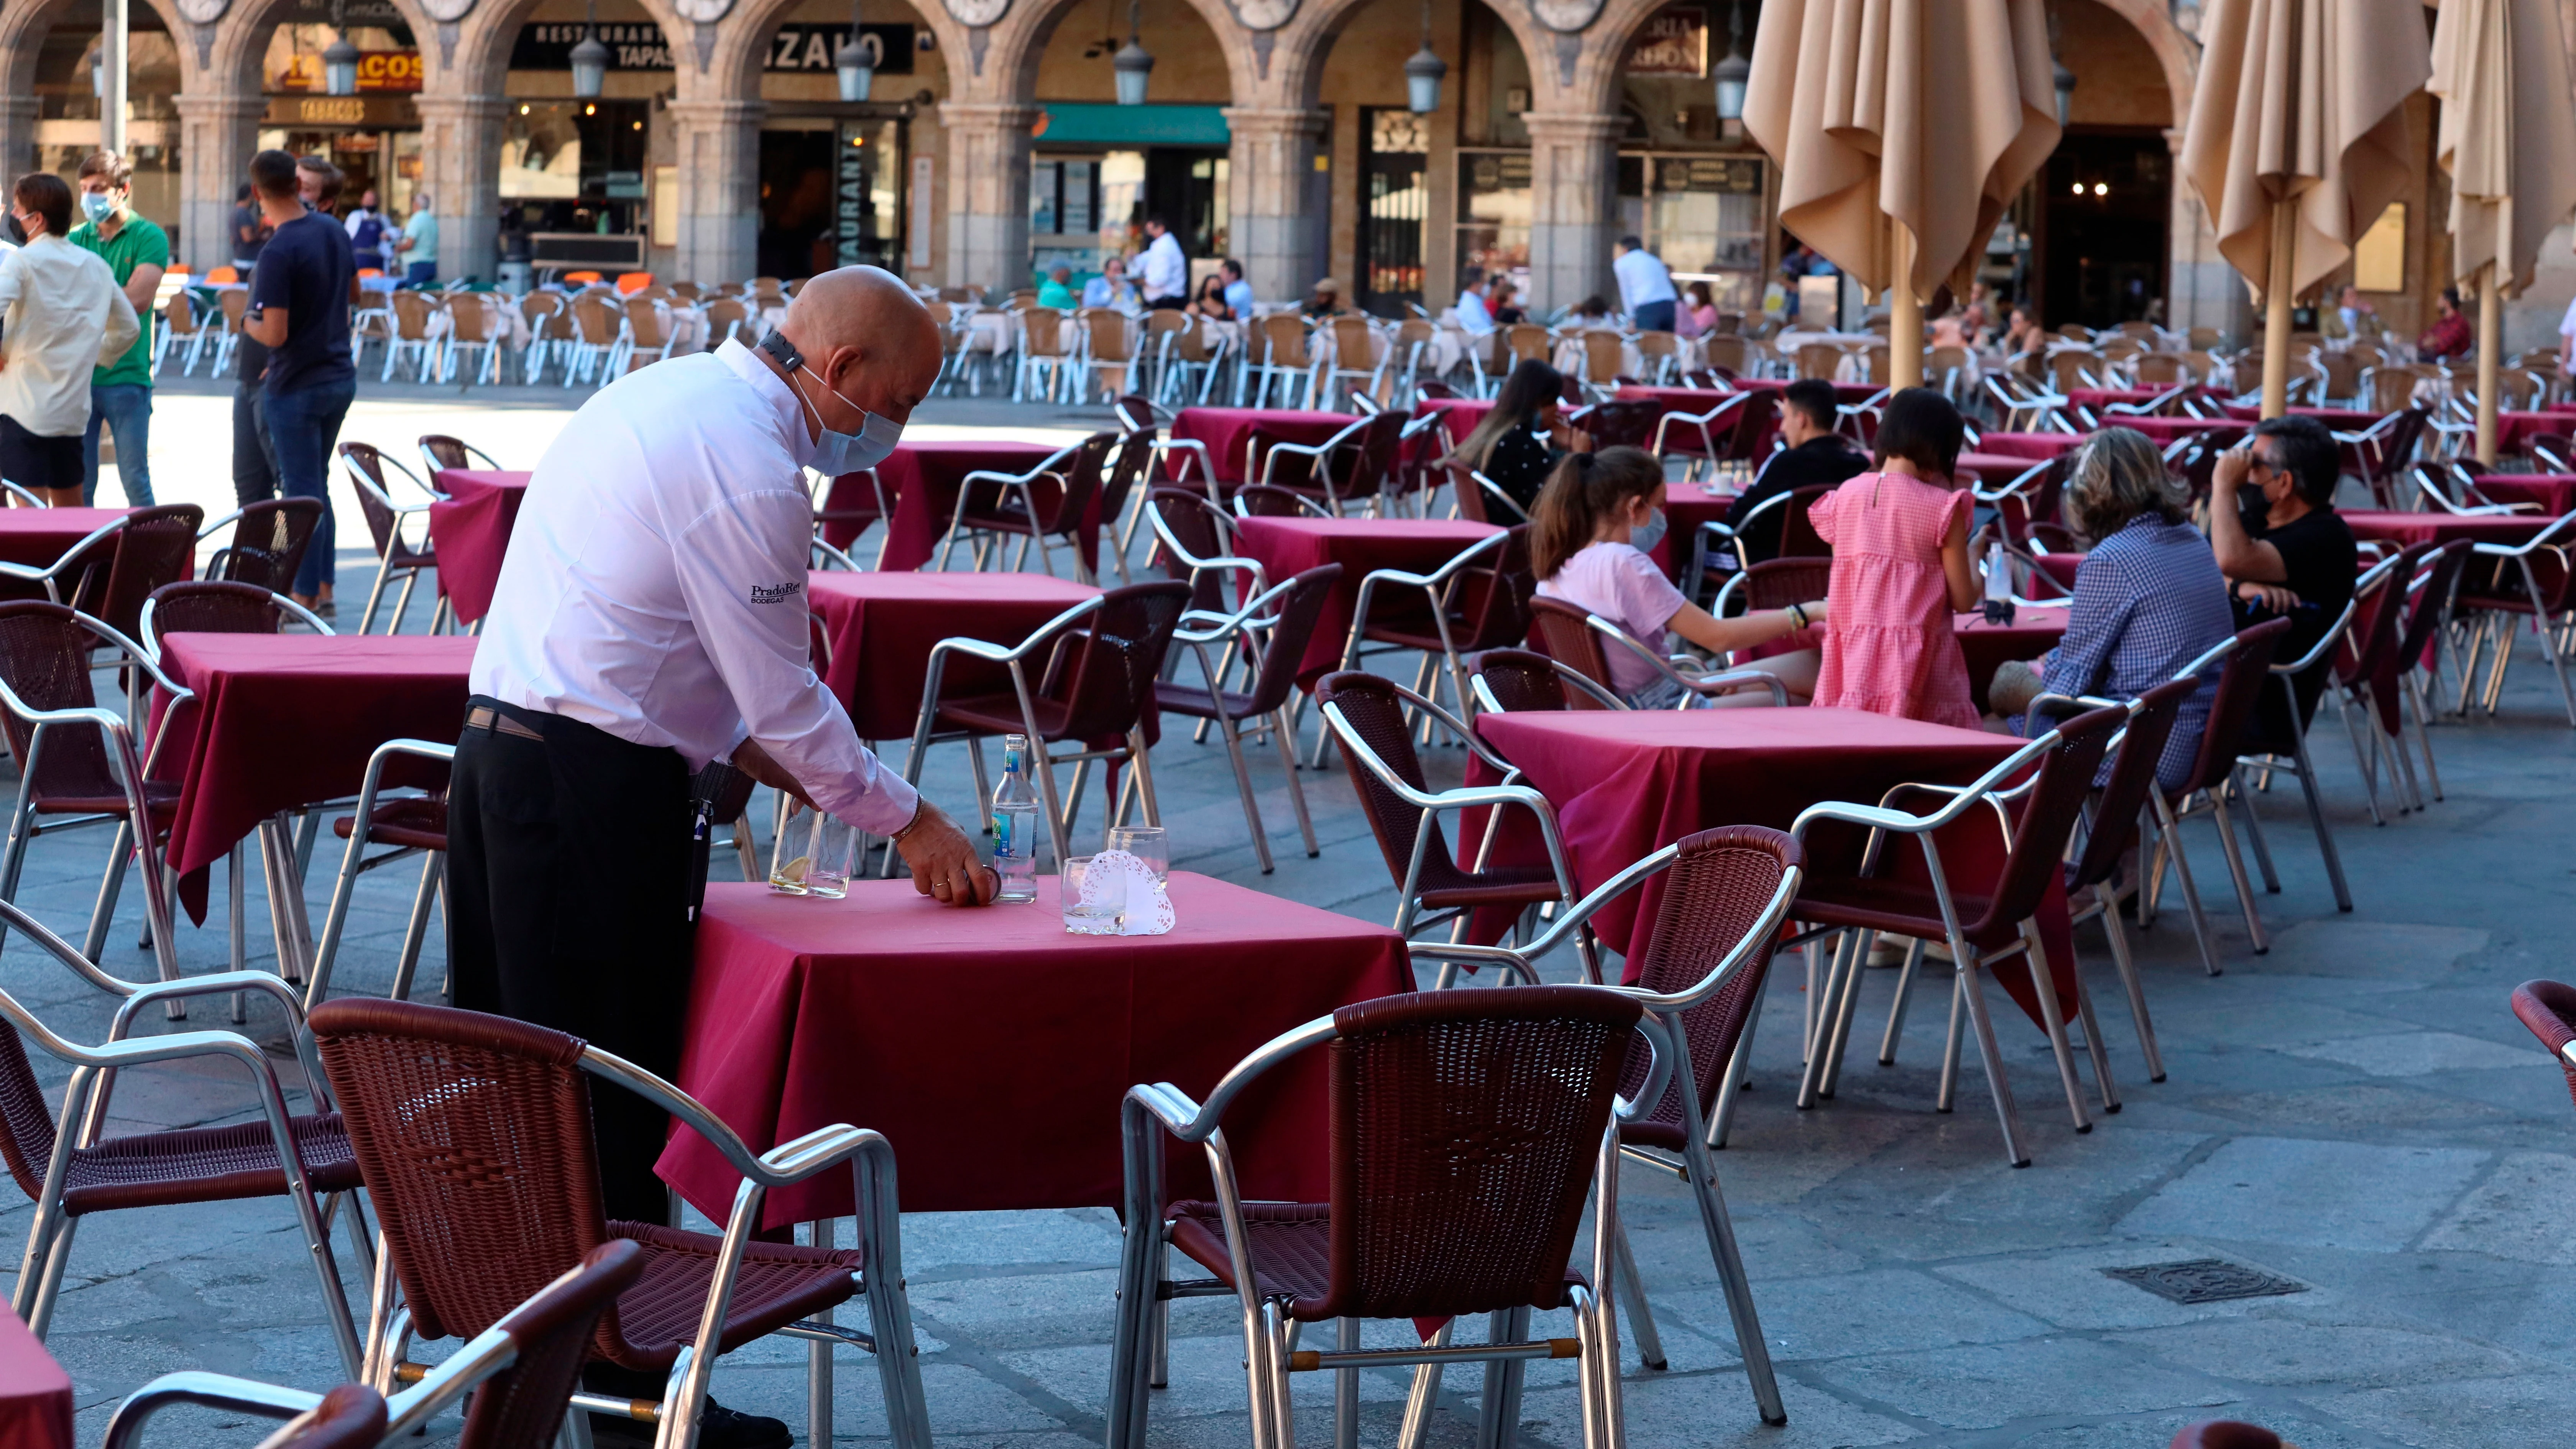
[[2069,131],[2038,188],[2040,320],[2050,327],[2161,320],[2174,204],[2164,131]]

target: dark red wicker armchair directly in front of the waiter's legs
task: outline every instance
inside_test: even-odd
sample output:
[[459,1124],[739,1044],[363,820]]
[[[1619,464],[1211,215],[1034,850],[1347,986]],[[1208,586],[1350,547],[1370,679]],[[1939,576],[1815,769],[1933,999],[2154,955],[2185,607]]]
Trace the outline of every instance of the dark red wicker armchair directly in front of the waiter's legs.
[[[484,1333],[623,1238],[644,1250],[644,1276],[598,1320],[590,1351],[618,1369],[667,1374],[665,1390],[659,1403],[574,1395],[577,1408],[657,1423],[667,1449],[690,1449],[719,1354],[770,1333],[840,1343],[842,1333],[806,1320],[866,1294],[889,1431],[904,1449],[930,1449],[894,1147],[881,1134],[840,1124],[755,1155],[680,1088],[562,1031],[361,998],[327,1000],[309,1021],[384,1240],[371,1387],[384,1392],[415,1372],[404,1356],[412,1336]],[[587,1078],[670,1111],[742,1173],[721,1240],[603,1217]],[[835,1168],[853,1173],[855,1250],[752,1240],[770,1189]],[[814,1359],[814,1379],[827,1405],[829,1356]],[[827,1423],[814,1428],[829,1434]]]

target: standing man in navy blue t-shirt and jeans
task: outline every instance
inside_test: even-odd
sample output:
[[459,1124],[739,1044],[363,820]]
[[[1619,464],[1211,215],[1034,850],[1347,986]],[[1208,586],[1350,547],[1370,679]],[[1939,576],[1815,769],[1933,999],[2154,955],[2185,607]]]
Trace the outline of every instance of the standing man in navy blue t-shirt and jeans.
[[[322,503],[322,523],[304,567],[296,570],[294,601],[314,614],[332,614],[332,518],[330,451],[340,441],[340,420],[358,394],[358,369],[348,361],[348,289],[358,276],[348,232],[330,211],[307,211],[296,193],[296,157],[260,152],[250,157],[250,183],[260,214],[276,227],[260,250],[260,271],[250,278],[250,315],[242,333],[268,348],[263,410],[278,459],[278,487],[286,498]],[[337,173],[322,175],[322,206],[337,191]]]

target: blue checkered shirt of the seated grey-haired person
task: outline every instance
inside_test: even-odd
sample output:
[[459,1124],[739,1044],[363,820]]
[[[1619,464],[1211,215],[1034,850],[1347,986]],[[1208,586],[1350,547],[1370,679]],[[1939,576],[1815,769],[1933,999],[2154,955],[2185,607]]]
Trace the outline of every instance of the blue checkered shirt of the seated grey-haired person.
[[[2210,541],[2190,523],[2146,513],[2084,554],[2066,642],[2050,650],[2043,686],[2069,696],[2136,699],[2233,632],[2228,580],[2218,575]],[[2210,670],[2200,691],[2182,701],[2156,761],[2164,789],[2182,789],[2190,779],[2215,696],[2218,670]],[[2110,763],[2102,768],[2107,773]]]

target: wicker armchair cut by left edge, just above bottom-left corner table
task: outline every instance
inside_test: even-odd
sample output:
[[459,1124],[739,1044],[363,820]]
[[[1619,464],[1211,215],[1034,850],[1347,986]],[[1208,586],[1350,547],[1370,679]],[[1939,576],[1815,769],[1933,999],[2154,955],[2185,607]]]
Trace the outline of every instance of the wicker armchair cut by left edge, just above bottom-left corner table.
[[[13,606],[26,608],[26,606]],[[41,608],[41,606],[36,606]],[[0,624],[5,629],[8,624]],[[126,1207],[188,1207],[201,1201],[247,1201],[260,1196],[286,1196],[296,1209],[296,1227],[312,1256],[314,1276],[322,1287],[322,1307],[332,1343],[340,1348],[343,1372],[361,1374],[358,1325],[350,1320],[348,1297],[340,1292],[340,1269],[330,1253],[330,1217],[314,1204],[314,1194],[337,1199],[358,1189],[358,1168],[350,1155],[340,1116],[330,1111],[319,1073],[301,1036],[301,1003],[296,993],[270,972],[211,972],[188,980],[134,985],[116,980],[75,951],[70,941],[46,931],[36,918],[15,905],[0,902],[0,926],[54,957],[72,975],[93,987],[124,998],[108,1026],[108,1039],[85,1047],[52,1031],[13,995],[0,993],[0,1160],[5,1160],[18,1189],[36,1201],[28,1222],[26,1256],[18,1266],[13,1310],[41,1341],[62,1294],[62,1271],[72,1258],[72,1235],[95,1212]],[[258,990],[276,998],[286,1011],[289,1036],[307,1070],[307,1091],[314,1111],[291,1116],[278,1085],[276,1067],[258,1042],[234,1031],[175,1031],[167,1036],[129,1036],[144,1006],[180,1003],[191,995]],[[26,1036],[72,1065],[72,1080],[62,1091],[62,1106],[46,1109],[44,1088],[26,1060]],[[232,1127],[185,1127],[178,1132],[134,1132],[103,1137],[111,1116],[111,1093],[129,1067],[180,1060],[229,1057],[250,1075],[258,1093],[258,1116]],[[198,1078],[204,1083],[204,1078]],[[198,1091],[204,1091],[198,1085]],[[350,1243],[358,1263],[368,1263],[353,1201],[335,1201],[343,1222],[350,1225]]]

